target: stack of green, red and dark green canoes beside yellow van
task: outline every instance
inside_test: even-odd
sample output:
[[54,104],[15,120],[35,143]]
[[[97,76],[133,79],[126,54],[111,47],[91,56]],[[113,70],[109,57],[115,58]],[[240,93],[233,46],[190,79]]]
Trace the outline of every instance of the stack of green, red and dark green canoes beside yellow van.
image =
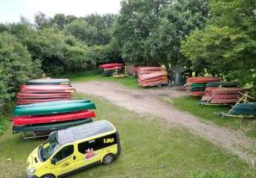
[[13,109],[13,133],[50,132],[92,122],[96,109],[88,99],[17,105]]

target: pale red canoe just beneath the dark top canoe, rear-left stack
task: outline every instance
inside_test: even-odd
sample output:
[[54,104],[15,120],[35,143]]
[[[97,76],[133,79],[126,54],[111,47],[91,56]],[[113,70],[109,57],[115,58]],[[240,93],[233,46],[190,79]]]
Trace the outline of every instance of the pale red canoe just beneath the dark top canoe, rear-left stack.
[[61,93],[74,92],[76,89],[69,85],[22,85],[22,93]]

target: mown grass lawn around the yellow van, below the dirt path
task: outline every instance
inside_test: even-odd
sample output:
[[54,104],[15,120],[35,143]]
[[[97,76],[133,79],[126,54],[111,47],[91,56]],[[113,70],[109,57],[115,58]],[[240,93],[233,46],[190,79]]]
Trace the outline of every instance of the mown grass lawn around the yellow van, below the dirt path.
[[[161,125],[157,118],[140,116],[104,99],[85,97],[96,103],[96,120],[108,119],[119,130],[122,154],[112,165],[99,165],[71,177],[189,177],[198,172],[244,174],[249,170],[237,156],[188,131]],[[24,140],[21,134],[13,135],[9,125],[0,136],[0,175],[13,177],[12,164],[22,177],[28,154],[43,140]]]

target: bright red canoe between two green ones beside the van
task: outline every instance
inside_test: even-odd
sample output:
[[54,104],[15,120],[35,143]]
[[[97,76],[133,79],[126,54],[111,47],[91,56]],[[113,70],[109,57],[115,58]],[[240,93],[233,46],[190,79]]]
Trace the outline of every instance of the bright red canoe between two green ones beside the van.
[[12,118],[13,125],[36,125],[51,122],[63,122],[76,119],[95,117],[93,111],[76,111],[74,113],[57,113],[42,116],[15,116]]

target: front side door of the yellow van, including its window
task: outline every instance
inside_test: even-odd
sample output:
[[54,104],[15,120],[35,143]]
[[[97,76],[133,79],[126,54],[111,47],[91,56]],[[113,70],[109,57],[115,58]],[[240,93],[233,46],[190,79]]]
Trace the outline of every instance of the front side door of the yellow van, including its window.
[[52,172],[59,176],[76,169],[76,156],[73,153],[73,145],[67,145],[61,148],[51,159]]

